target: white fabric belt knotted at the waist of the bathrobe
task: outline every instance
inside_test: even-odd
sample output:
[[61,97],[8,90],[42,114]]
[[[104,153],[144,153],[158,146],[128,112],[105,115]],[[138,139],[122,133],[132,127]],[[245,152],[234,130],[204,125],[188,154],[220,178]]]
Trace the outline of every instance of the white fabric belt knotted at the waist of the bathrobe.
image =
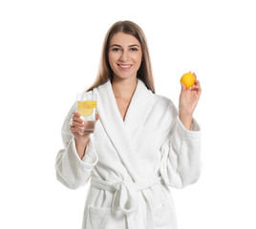
[[138,192],[160,182],[162,182],[160,177],[150,178],[143,183],[124,180],[112,183],[96,177],[92,177],[91,179],[92,186],[115,192],[111,208],[113,211],[120,210],[127,216],[135,213],[137,209]]

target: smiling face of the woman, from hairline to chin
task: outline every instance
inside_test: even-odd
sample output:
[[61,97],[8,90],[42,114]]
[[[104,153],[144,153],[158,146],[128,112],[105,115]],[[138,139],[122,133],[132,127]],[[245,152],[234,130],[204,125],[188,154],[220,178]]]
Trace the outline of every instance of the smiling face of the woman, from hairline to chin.
[[108,57],[114,79],[115,77],[137,78],[142,60],[142,49],[136,37],[117,32],[110,40]]

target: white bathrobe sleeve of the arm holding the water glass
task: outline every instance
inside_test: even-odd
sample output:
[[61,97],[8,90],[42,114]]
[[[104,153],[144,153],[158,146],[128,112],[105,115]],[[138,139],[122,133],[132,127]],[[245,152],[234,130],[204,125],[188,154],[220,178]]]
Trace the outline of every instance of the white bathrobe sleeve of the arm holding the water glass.
[[64,149],[58,152],[55,161],[57,179],[70,189],[77,189],[87,183],[98,160],[92,135],[86,147],[85,156],[81,159],[76,152],[75,138],[70,131],[70,121],[74,111],[75,105],[62,126]]

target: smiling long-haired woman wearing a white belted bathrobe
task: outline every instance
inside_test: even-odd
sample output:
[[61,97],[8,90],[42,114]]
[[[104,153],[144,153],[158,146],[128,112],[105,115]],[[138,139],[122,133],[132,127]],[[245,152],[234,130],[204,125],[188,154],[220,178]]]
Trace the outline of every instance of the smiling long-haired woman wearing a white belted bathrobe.
[[67,187],[91,177],[83,229],[177,228],[168,186],[182,188],[200,177],[201,132],[193,119],[200,82],[191,89],[181,84],[179,111],[155,94],[144,34],[120,21],[106,34],[88,91],[98,97],[95,132],[81,134],[87,123],[74,105],[56,158],[57,178]]

